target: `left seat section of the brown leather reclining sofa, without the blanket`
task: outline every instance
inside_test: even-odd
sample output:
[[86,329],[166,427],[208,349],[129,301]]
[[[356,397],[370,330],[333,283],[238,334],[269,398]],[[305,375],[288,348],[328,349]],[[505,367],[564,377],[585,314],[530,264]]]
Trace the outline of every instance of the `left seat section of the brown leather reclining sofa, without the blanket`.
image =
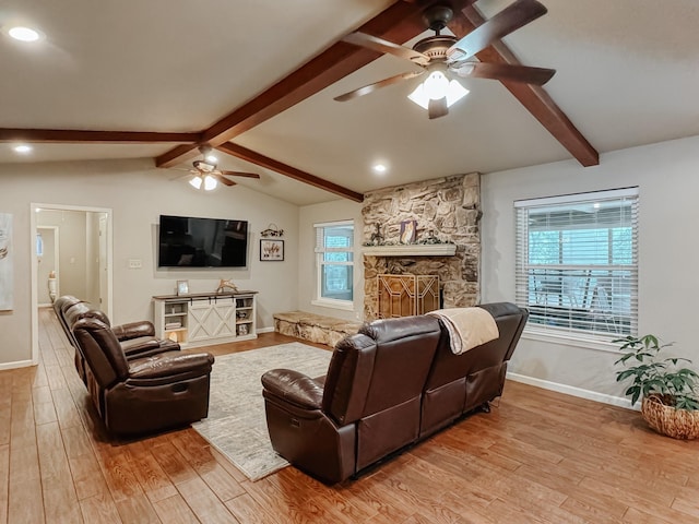
[[375,323],[337,343],[328,376],[262,377],[272,446],[325,483],[417,440],[423,386],[441,335],[430,317]]

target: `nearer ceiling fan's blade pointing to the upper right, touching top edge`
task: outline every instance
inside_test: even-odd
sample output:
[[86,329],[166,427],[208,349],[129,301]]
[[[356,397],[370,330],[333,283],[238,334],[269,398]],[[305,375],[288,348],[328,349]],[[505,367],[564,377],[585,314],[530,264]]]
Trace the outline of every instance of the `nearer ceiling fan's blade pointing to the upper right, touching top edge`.
[[509,35],[523,25],[546,14],[547,9],[537,0],[517,0],[487,20],[447,50],[449,61],[473,57],[490,44]]

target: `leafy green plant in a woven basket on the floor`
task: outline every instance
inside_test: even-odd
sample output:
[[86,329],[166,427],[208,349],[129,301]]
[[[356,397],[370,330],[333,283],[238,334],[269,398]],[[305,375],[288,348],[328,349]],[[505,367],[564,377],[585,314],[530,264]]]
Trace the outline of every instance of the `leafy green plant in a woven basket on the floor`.
[[657,336],[627,336],[614,341],[624,353],[615,365],[617,382],[631,379],[625,394],[631,405],[641,398],[643,418],[655,431],[676,439],[699,437],[699,374],[685,367],[686,358],[666,357]]

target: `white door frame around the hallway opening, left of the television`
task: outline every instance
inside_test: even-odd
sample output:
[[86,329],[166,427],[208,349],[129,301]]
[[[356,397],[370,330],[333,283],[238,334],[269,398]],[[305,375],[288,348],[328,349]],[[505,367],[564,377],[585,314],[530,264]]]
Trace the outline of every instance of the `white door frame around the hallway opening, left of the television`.
[[110,207],[91,207],[82,205],[64,205],[35,203],[29,204],[29,235],[32,260],[32,364],[39,361],[39,314],[38,314],[38,258],[36,255],[36,214],[40,210],[51,211],[82,211],[85,213],[105,213],[107,215],[107,303],[102,305],[103,311],[111,318],[114,303],[114,249],[112,249],[112,211]]

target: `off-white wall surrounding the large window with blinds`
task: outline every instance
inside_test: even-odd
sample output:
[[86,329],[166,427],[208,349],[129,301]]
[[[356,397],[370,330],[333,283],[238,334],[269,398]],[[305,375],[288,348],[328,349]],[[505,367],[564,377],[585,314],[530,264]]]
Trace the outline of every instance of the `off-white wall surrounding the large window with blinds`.
[[[694,311],[699,297],[699,136],[574,160],[493,172],[482,180],[483,301],[514,300],[513,201],[638,186],[639,334],[674,342],[699,366]],[[590,349],[524,336],[509,371],[602,395],[623,396],[616,349]],[[556,385],[558,384],[558,385]]]

